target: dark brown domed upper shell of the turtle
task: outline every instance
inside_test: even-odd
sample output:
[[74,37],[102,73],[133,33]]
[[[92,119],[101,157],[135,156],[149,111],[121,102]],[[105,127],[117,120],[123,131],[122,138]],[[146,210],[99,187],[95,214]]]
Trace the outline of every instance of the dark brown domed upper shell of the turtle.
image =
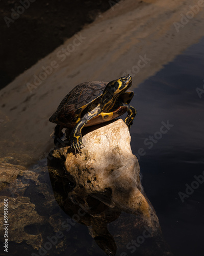
[[89,105],[98,100],[103,94],[108,82],[92,81],[78,84],[61,101],[57,111],[49,118],[50,122],[73,127],[76,124],[78,115],[86,114]]

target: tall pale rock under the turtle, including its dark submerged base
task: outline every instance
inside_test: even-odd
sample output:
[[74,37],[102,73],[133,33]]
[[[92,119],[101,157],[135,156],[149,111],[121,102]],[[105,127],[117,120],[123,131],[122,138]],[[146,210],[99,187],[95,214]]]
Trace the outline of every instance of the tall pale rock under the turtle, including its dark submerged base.
[[156,212],[142,189],[139,163],[132,154],[125,123],[114,120],[87,127],[85,133],[81,155],[67,154],[67,147],[53,152],[66,168],[59,172],[49,168],[59,205],[68,215],[83,209],[80,223],[89,227],[91,236],[108,255],[115,255],[116,250],[130,253],[126,245],[145,228],[151,230],[150,236],[137,253],[171,255]]

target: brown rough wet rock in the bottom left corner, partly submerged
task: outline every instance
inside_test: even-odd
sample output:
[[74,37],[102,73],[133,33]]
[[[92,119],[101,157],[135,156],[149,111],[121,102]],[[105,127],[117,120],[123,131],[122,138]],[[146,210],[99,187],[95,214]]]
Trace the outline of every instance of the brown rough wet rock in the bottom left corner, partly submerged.
[[[62,229],[59,221],[62,219],[61,210],[47,182],[47,168],[41,166],[39,172],[34,172],[9,163],[11,160],[7,157],[0,161],[0,211],[4,212],[4,199],[8,199],[10,255],[38,254],[38,250],[47,242],[46,237]],[[4,223],[3,215],[0,222]],[[3,229],[0,230],[0,237],[5,242]],[[66,239],[60,242],[58,251],[63,251],[67,247]],[[47,255],[54,251],[47,251]]]

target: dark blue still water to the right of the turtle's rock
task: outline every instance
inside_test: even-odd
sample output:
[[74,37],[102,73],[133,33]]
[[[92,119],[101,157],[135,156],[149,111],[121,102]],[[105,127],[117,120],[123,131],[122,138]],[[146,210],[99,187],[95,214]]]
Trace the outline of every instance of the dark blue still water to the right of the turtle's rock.
[[[142,184],[178,256],[200,256],[204,249],[204,182],[192,183],[204,171],[204,93],[196,91],[203,90],[203,79],[204,38],[140,84],[131,102],[137,109],[131,146]],[[171,126],[162,134],[167,121]],[[194,187],[187,190],[191,195],[186,184]]]

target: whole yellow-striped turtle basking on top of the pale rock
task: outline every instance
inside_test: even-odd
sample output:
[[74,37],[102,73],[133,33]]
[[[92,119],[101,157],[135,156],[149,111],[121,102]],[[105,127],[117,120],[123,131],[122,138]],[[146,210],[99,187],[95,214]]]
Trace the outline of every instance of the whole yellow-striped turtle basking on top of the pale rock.
[[67,152],[82,153],[82,129],[84,126],[110,121],[127,112],[124,120],[130,130],[136,109],[129,105],[134,92],[127,90],[132,85],[131,75],[110,82],[91,81],[78,84],[61,101],[56,112],[49,118],[56,123],[54,136],[58,140],[62,129],[72,129],[70,148]]

